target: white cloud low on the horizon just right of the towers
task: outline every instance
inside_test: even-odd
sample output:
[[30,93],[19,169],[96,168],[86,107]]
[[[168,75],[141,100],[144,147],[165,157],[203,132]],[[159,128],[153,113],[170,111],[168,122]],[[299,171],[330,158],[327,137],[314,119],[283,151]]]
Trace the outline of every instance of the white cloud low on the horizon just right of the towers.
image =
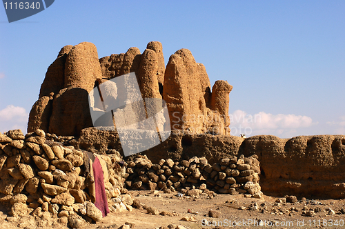
[[243,110],[235,110],[230,114],[231,135],[275,135],[277,137],[294,137],[299,135],[302,128],[310,128],[313,123],[311,117],[302,115],[273,115],[259,112],[249,115]]

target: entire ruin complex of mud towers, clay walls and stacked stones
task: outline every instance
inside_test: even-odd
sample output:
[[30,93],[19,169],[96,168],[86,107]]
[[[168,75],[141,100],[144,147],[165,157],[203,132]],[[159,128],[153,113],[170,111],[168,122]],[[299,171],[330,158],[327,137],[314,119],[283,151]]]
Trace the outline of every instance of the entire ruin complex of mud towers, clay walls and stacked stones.
[[[88,93],[130,72],[143,98],[166,101],[172,131],[158,146],[124,157],[116,129],[93,128]],[[186,49],[165,66],[157,41],[142,54],[130,48],[101,59],[92,43],[65,46],[47,70],[28,134],[0,133],[0,201],[13,217],[52,215],[79,228],[107,210],[142,208],[128,189],[345,198],[344,135],[231,136],[232,88],[219,80],[211,90],[205,67]]]

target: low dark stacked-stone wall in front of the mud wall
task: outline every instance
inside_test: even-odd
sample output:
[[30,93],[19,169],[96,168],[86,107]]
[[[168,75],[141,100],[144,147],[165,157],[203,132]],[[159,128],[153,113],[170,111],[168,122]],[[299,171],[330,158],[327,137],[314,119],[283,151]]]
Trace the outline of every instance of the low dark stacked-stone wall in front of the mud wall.
[[205,157],[174,162],[161,159],[152,164],[146,155],[128,161],[127,188],[134,190],[213,190],[223,194],[248,197],[262,195],[259,186],[259,161],[257,156],[244,155],[224,158],[210,165]]

